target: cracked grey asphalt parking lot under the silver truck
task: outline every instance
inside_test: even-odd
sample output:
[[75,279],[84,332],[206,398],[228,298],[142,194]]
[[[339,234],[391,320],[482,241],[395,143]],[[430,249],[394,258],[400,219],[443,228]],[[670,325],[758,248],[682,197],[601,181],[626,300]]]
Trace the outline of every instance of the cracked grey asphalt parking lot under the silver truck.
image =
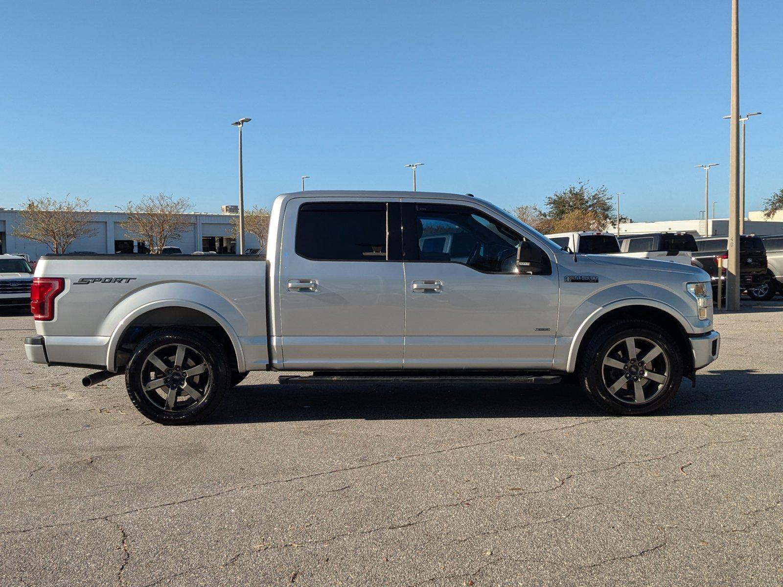
[[783,301],[673,409],[575,387],[279,386],[145,420],[0,317],[2,585],[781,585]]

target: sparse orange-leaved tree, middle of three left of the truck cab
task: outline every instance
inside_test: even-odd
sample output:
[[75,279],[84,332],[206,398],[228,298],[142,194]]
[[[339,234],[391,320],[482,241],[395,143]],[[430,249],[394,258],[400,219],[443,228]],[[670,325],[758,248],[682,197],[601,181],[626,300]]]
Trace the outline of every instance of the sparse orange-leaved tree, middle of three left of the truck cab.
[[139,203],[128,202],[124,212],[128,219],[121,221],[126,236],[143,240],[150,253],[161,254],[171,240],[182,238],[182,232],[193,225],[187,215],[190,202],[186,198],[174,199],[163,192],[157,196],[144,196]]

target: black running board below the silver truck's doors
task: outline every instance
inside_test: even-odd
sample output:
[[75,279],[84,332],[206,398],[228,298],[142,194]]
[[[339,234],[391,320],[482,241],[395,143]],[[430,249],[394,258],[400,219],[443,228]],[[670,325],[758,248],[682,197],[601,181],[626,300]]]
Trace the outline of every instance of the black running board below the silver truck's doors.
[[281,375],[280,384],[404,384],[404,383],[510,383],[531,385],[553,385],[561,382],[559,375]]

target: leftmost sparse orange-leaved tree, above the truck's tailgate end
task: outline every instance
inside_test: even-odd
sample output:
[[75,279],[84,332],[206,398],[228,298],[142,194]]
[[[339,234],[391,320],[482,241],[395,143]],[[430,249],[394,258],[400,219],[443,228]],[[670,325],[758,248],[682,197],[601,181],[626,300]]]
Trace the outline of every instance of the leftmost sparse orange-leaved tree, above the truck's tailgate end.
[[71,199],[70,194],[63,200],[49,196],[28,198],[19,211],[20,222],[13,227],[13,236],[44,243],[52,253],[63,254],[74,240],[97,233],[89,225],[92,211],[86,209],[88,203],[81,198]]

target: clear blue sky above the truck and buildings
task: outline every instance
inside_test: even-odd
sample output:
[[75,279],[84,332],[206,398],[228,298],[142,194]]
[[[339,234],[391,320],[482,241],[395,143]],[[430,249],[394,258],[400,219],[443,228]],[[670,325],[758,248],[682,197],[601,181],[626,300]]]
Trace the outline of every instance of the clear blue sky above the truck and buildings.
[[[579,178],[637,220],[727,214],[730,0],[6,2],[0,206],[143,194],[199,211],[312,189],[540,203]],[[783,2],[741,0],[748,207],[783,188]]]

